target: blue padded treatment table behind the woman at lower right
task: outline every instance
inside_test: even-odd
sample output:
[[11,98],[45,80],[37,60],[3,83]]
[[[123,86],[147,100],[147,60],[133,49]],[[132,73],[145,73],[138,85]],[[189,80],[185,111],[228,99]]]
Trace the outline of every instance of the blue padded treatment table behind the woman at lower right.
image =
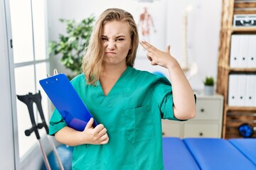
[[163,137],[164,168],[256,170],[256,139]]

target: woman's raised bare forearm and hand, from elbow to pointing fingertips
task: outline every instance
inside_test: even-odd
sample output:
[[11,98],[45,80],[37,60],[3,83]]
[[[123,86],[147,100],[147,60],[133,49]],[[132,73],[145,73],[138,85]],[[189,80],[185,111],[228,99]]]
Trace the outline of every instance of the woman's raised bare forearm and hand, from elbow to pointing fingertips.
[[196,115],[193,90],[185,74],[183,74],[181,66],[178,64],[177,60],[170,55],[170,45],[166,47],[166,52],[164,52],[149,44],[149,42],[141,41],[139,43],[146,50],[146,57],[148,57],[152,65],[159,65],[169,70],[173,90],[175,117],[181,120],[193,118]]

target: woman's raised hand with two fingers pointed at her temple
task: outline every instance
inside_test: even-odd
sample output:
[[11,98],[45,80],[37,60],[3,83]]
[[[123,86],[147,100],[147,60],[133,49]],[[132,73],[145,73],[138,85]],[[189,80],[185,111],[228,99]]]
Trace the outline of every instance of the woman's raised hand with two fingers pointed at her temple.
[[170,55],[170,45],[167,46],[166,52],[163,52],[144,40],[139,43],[146,50],[146,57],[148,57],[152,65],[159,65],[169,69],[169,67],[178,64],[176,59]]

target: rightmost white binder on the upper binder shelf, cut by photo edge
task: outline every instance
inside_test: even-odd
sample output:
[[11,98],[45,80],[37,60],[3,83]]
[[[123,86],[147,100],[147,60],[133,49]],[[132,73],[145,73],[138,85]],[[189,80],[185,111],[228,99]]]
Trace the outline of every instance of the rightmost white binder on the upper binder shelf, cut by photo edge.
[[248,45],[247,68],[256,67],[256,35],[250,35]]

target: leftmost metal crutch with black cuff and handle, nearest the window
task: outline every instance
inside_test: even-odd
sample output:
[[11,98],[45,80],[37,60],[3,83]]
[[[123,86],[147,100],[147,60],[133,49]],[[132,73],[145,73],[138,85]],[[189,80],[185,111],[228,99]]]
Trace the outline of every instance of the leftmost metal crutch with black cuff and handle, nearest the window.
[[39,142],[39,145],[40,145],[40,148],[41,148],[41,152],[43,154],[43,161],[46,164],[46,168],[48,170],[50,170],[50,164],[48,162],[48,158],[46,156],[46,152],[43,149],[43,144],[41,142],[41,137],[40,137],[39,132],[38,132],[38,127],[36,125],[36,120],[35,120],[35,116],[34,116],[34,113],[33,113],[33,100],[30,97],[30,95],[31,95],[31,93],[29,93],[28,95],[23,95],[23,96],[17,95],[18,100],[20,100],[23,103],[25,103],[26,106],[28,107],[28,113],[29,113],[29,116],[31,118],[32,128],[30,128],[28,130],[25,130],[25,135],[26,136],[30,136],[32,132],[35,132],[36,139]]

